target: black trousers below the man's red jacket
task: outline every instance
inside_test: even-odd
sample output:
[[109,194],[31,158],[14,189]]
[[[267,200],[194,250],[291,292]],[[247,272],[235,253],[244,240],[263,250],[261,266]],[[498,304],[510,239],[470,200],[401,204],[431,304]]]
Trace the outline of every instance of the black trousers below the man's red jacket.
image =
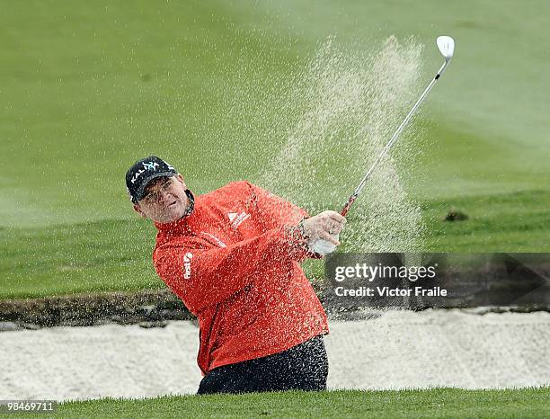
[[287,351],[215,368],[200,381],[197,394],[324,390],[328,359],[318,335]]

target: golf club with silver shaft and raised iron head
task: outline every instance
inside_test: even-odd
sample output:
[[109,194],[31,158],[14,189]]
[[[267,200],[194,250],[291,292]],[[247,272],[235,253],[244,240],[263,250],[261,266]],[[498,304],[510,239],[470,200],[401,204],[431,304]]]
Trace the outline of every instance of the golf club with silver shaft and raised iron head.
[[[414,115],[414,112],[416,112],[418,110],[418,108],[420,108],[421,103],[424,102],[424,100],[426,99],[426,96],[428,96],[428,94],[430,93],[431,88],[439,80],[439,77],[443,74],[443,72],[447,68],[448,63],[450,62],[451,58],[453,58],[453,55],[455,53],[455,40],[453,40],[450,36],[439,36],[438,39],[436,40],[436,43],[438,45],[439,52],[445,58],[445,62],[439,68],[438,73],[436,74],[435,77],[433,77],[433,79],[430,82],[430,85],[428,85],[428,87],[426,87],[426,89],[421,94],[418,101],[416,101],[416,103],[414,103],[414,106],[412,106],[411,111],[409,111],[407,116],[404,118],[403,122],[401,122],[401,125],[399,125],[399,127],[397,127],[397,129],[394,132],[394,135],[387,142],[386,147],[384,147],[384,149],[377,156],[377,159],[375,160],[375,162],[370,166],[370,168],[368,169],[367,174],[365,174],[365,177],[363,177],[363,179],[359,183],[359,186],[350,195],[350,198],[348,198],[348,201],[345,203],[342,210],[340,211],[342,216],[345,216],[348,213],[351,206],[353,205],[353,202],[355,202],[357,200],[357,198],[359,197],[359,194],[361,193],[361,191],[365,187],[365,184],[367,183],[368,178],[374,172],[374,170],[377,167],[378,163],[380,163],[382,158],[384,156],[386,156],[387,151],[394,145],[395,140],[397,138],[399,138],[399,136],[403,132],[405,126],[407,125],[409,120],[411,120],[412,115]],[[327,242],[325,240],[318,240],[315,243],[314,247],[315,247],[315,249],[314,249],[315,252],[319,253],[319,254],[328,254],[328,253],[331,253],[334,250],[334,245],[330,244],[329,242]],[[330,250],[329,252],[324,252],[325,249],[332,249],[332,250]]]

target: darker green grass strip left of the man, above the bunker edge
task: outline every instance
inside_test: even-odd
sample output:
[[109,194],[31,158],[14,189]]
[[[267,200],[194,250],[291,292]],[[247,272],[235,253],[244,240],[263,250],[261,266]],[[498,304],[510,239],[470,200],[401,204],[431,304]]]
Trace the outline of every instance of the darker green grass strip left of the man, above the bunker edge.
[[154,231],[139,220],[0,229],[0,298],[160,288]]

